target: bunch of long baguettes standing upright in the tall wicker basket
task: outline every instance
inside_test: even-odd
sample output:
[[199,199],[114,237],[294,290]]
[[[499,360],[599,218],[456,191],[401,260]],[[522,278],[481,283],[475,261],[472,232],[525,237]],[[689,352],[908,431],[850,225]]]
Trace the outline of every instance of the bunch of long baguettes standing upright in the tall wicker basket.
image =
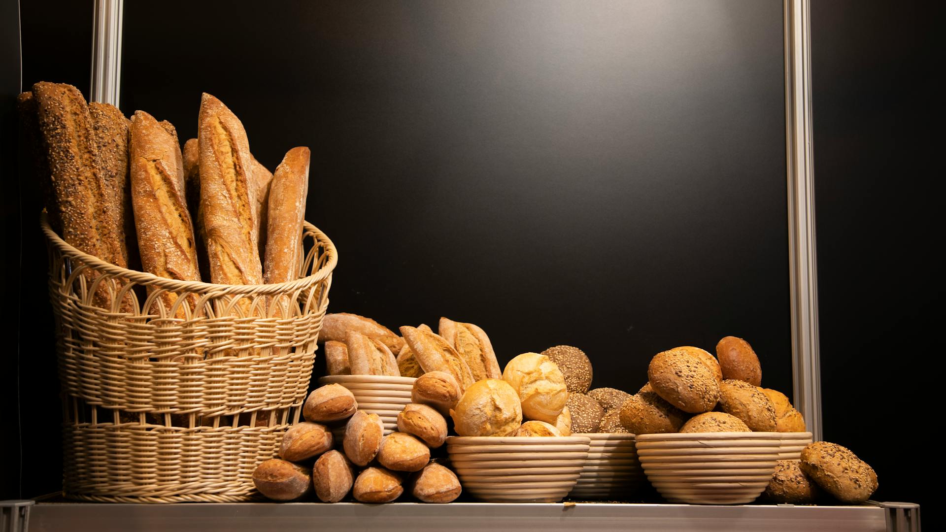
[[[179,280],[254,285],[300,275],[307,148],[289,150],[270,172],[236,115],[208,94],[184,151],[166,120],[126,118],[72,85],[36,83],[18,109],[48,219],[79,251]],[[165,292],[156,303],[171,310],[176,298]],[[113,302],[101,286],[92,303],[131,311],[133,300]],[[174,317],[184,317],[180,307]]]

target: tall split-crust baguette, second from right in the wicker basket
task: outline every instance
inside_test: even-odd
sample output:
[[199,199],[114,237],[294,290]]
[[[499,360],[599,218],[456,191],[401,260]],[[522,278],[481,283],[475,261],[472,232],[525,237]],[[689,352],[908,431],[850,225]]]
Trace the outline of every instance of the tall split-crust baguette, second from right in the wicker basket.
[[[200,147],[203,233],[210,278],[219,284],[261,284],[256,239],[256,187],[243,124],[219,99],[201,98]],[[249,311],[249,303],[244,310]]]

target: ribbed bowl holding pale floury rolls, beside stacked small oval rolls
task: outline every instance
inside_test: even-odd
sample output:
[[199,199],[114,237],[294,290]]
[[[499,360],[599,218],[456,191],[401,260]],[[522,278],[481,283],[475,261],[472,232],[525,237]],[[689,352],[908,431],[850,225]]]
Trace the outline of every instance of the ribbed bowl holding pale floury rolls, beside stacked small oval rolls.
[[464,491],[489,503],[555,503],[585,466],[587,436],[450,436],[447,454]]

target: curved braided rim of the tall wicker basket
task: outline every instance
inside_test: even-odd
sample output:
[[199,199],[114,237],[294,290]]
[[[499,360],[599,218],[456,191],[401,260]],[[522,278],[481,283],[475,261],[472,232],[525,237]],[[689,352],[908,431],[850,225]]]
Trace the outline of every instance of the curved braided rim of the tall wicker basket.
[[66,257],[79,260],[79,262],[87,264],[90,267],[103,271],[109,275],[125,277],[140,285],[157,286],[170,292],[220,293],[221,295],[250,293],[274,295],[278,293],[289,293],[300,288],[304,288],[312,283],[323,281],[329,275],[331,275],[332,271],[339,262],[339,252],[336,249],[335,244],[331,239],[328,238],[327,235],[324,234],[324,232],[322,232],[322,230],[312,223],[304,220],[303,227],[307,231],[314,233],[317,240],[324,244],[325,254],[328,256],[328,260],[325,262],[322,268],[319,268],[319,270],[314,274],[300,277],[294,281],[285,283],[273,283],[268,285],[224,285],[205,283],[203,281],[168,279],[167,277],[149,274],[148,272],[138,272],[136,270],[129,270],[128,268],[122,268],[121,266],[115,266],[114,264],[106,262],[101,258],[79,251],[79,249],[61,239],[61,237],[57,235],[56,232],[53,231],[53,228],[49,225],[49,217],[45,209],[40,214],[40,228],[43,230],[46,240]]

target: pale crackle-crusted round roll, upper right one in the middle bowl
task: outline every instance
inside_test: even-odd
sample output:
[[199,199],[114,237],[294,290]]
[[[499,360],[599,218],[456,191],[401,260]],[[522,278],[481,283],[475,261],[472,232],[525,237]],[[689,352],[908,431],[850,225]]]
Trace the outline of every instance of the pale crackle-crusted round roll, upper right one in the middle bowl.
[[[528,419],[554,423],[569,399],[565,376],[549,357],[538,353],[523,353],[509,361],[502,380],[516,390],[522,415]],[[571,416],[574,422],[574,409]]]

